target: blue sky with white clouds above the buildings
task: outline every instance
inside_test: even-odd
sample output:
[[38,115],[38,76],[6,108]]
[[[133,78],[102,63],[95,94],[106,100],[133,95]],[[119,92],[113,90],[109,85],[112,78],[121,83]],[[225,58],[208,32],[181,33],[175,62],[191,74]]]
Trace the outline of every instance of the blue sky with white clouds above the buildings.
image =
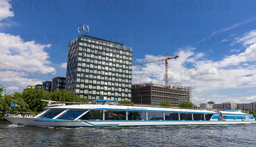
[[[134,64],[166,52],[180,55],[169,61],[169,84],[192,86],[194,103],[256,101],[253,0],[1,0],[0,10],[0,61],[14,72],[5,73],[9,68],[1,65],[0,84],[9,92],[16,82],[16,90],[22,91],[50,81],[52,71],[66,76],[68,43],[84,23],[90,27],[88,35],[133,47]],[[202,76],[192,75],[196,69]],[[148,81],[164,83],[163,62],[134,66],[133,83]]]

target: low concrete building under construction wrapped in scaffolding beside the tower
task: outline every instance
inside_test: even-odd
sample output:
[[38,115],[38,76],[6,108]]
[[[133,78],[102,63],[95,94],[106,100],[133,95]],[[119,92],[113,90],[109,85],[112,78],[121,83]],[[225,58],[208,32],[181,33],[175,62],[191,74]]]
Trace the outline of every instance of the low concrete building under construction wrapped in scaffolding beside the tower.
[[172,107],[178,106],[183,101],[191,101],[191,87],[175,84],[165,86],[157,83],[131,85],[131,101],[134,104],[156,104],[166,100]]

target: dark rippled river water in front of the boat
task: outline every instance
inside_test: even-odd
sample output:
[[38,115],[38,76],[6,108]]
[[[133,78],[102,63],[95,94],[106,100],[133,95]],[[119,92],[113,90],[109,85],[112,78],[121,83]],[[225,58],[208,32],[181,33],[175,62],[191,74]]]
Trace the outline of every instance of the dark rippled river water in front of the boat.
[[254,147],[256,124],[57,128],[0,121],[0,147]]

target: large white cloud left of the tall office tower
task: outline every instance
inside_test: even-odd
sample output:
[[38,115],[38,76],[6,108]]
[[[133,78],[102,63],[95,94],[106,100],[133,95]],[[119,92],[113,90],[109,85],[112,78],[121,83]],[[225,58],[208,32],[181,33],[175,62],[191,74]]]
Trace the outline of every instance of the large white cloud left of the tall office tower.
[[51,45],[42,45],[35,43],[35,41],[23,41],[19,35],[11,35],[0,33],[1,36],[1,61],[12,66],[13,69],[33,69],[43,70],[45,73],[53,67],[49,66],[51,63],[49,54],[44,49]]

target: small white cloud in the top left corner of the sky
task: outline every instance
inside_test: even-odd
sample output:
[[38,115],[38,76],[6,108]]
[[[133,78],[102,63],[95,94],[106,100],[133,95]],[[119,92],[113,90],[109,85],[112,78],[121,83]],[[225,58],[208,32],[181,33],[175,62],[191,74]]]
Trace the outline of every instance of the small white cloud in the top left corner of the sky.
[[13,17],[13,11],[10,11],[12,5],[9,3],[10,0],[0,0],[0,20]]

